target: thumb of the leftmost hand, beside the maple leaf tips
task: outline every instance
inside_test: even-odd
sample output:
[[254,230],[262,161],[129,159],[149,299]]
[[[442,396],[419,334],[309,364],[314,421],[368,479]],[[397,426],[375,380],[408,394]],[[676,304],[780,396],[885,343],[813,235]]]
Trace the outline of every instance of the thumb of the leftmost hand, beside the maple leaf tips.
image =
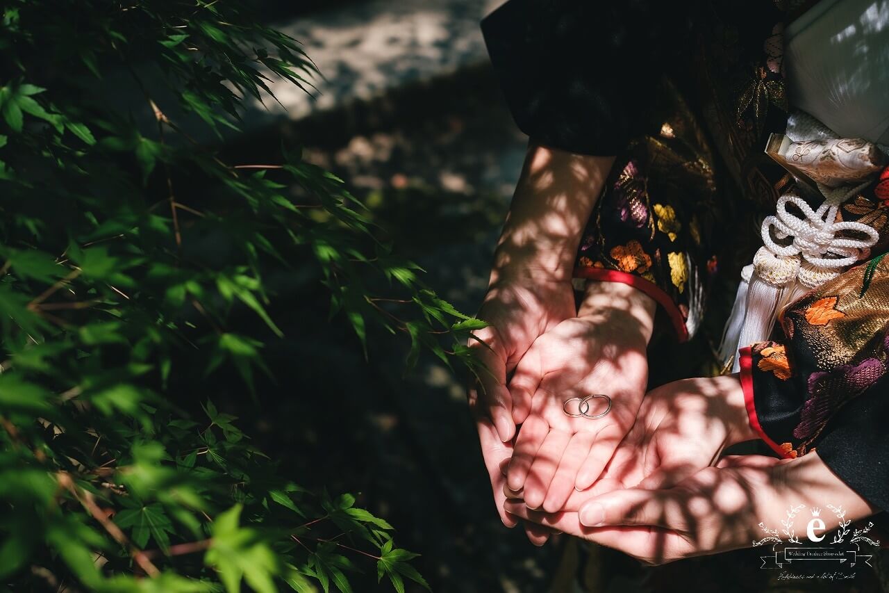
[[483,339],[487,346],[479,344],[477,340],[470,343],[482,368],[478,370],[477,387],[469,390],[469,402],[472,408],[481,410],[492,419],[497,434],[505,443],[516,435],[516,424],[512,421],[512,398],[506,387],[506,355],[500,352],[500,345],[493,333],[483,332],[484,329],[478,332],[478,338]]

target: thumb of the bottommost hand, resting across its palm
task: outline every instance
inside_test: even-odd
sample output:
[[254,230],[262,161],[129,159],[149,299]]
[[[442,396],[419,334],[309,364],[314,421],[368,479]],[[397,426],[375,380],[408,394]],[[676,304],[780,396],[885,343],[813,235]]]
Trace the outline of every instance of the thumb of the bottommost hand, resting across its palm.
[[578,517],[588,527],[645,525],[679,530],[683,515],[672,504],[677,496],[676,490],[613,491],[584,503]]

